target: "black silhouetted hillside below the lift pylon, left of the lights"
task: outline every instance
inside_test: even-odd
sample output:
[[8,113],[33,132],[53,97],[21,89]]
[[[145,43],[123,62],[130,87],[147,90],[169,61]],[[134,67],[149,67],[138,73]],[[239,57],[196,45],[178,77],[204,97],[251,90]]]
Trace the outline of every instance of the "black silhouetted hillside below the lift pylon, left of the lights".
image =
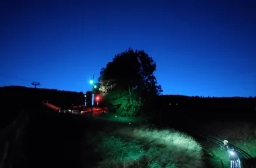
[[[84,104],[84,93],[74,91],[59,91],[57,89],[34,89],[31,87],[9,86],[0,87],[1,112],[0,122],[9,122],[23,108],[37,106],[49,102],[61,108],[69,108]],[[0,126],[1,128],[1,126]]]

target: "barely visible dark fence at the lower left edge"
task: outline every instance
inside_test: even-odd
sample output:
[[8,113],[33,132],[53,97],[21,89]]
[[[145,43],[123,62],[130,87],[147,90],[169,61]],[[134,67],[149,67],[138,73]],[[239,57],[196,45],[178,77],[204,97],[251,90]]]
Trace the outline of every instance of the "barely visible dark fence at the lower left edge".
[[28,112],[22,110],[9,126],[0,130],[0,168],[14,167],[18,161],[28,120]]

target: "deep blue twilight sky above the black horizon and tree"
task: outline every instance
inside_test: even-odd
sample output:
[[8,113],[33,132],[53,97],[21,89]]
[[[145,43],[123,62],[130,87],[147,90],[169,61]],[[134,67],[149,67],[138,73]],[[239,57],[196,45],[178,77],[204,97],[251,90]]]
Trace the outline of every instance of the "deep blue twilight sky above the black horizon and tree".
[[256,95],[252,1],[0,3],[0,86],[88,91],[115,54],[143,49],[164,94]]

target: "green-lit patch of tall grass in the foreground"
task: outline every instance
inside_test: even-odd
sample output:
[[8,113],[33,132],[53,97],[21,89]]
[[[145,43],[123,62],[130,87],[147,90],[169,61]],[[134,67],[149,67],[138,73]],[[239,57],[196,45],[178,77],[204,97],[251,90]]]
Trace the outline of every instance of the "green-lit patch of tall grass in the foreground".
[[122,127],[101,138],[99,167],[203,167],[201,145],[175,130]]

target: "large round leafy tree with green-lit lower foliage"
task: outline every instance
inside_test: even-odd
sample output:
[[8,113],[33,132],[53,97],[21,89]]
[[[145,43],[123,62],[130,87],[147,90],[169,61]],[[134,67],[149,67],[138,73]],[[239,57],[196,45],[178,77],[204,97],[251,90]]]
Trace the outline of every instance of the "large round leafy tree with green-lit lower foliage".
[[117,114],[134,116],[143,110],[149,97],[160,95],[156,62],[144,50],[129,48],[115,55],[100,71],[100,92],[117,107]]

